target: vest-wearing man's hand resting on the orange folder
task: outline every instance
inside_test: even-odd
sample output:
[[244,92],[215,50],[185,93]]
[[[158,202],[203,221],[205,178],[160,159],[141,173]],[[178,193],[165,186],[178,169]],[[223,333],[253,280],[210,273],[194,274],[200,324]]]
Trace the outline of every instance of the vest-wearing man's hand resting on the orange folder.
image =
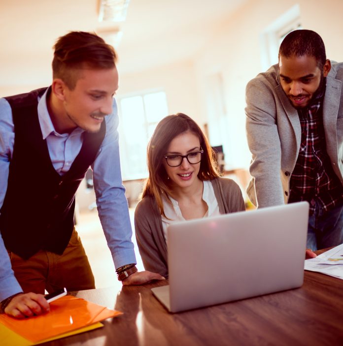
[[50,311],[43,294],[23,293],[12,298],[5,308],[5,314],[15,318],[25,318],[45,314]]

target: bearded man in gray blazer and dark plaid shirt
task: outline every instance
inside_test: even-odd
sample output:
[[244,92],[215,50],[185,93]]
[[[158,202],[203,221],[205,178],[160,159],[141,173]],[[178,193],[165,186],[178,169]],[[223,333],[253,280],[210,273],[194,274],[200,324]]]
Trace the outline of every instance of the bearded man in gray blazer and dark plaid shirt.
[[342,81],[343,63],[326,59],[321,37],[297,30],[246,87],[249,198],[259,208],[308,201],[312,250],[343,242]]

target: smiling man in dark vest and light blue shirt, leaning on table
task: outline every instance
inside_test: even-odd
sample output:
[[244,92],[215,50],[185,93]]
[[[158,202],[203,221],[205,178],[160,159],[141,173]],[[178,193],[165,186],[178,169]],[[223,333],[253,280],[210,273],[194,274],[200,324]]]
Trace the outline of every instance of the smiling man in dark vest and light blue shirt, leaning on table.
[[54,48],[50,87],[0,99],[0,307],[17,318],[49,311],[45,289],[95,288],[73,222],[75,192],[90,166],[118,280],[163,279],[136,268],[120,173],[115,51],[79,31]]

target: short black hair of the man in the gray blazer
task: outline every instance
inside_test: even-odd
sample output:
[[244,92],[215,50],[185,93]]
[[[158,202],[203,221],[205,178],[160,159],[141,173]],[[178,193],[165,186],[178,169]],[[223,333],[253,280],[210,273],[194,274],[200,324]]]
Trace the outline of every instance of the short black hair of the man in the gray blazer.
[[312,30],[291,31],[283,39],[279,49],[280,55],[302,57],[309,55],[315,58],[317,66],[322,69],[326,62],[325,46],[322,38]]

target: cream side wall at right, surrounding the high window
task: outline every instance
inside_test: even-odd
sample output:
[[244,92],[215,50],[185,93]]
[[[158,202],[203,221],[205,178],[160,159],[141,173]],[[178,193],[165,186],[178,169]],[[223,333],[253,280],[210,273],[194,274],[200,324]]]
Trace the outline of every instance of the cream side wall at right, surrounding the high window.
[[[200,95],[206,94],[206,74],[217,66],[224,76],[224,94],[228,109],[227,135],[230,147],[228,160],[233,167],[246,167],[250,160],[245,139],[244,92],[246,83],[262,71],[260,39],[264,29],[295,4],[300,5],[304,29],[318,32],[326,45],[330,59],[342,61],[343,45],[338,44],[343,32],[343,1],[250,1],[225,23],[218,25],[218,36],[209,42],[205,54],[196,62]],[[204,66],[207,66],[204,68]],[[205,109],[200,97],[201,109]],[[206,115],[203,115],[206,117]],[[209,126],[215,126],[208,120]]]

